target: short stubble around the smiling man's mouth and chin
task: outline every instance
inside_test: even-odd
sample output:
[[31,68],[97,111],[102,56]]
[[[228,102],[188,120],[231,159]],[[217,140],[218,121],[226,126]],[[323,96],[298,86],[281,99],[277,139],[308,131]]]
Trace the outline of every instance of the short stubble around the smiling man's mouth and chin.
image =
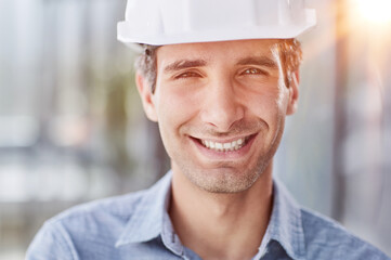
[[[235,161],[224,160],[218,162],[212,169],[203,169],[194,164],[187,155],[177,154],[172,160],[172,169],[181,171],[193,184],[210,193],[239,193],[246,191],[253,185],[272,161],[282,138],[284,119],[279,120],[277,125],[275,135],[271,142],[262,142],[264,146],[261,148],[261,152],[251,154],[251,157],[257,156],[257,158],[252,158],[248,165],[237,166]],[[256,138],[264,141],[269,126],[263,120],[251,122],[238,121],[227,132],[217,132],[209,127],[193,128],[188,125],[183,126],[181,131],[193,136],[208,136],[211,139],[229,139],[238,134],[249,135],[257,133]],[[259,144],[253,143],[252,145]],[[259,151],[259,147],[256,151]]]

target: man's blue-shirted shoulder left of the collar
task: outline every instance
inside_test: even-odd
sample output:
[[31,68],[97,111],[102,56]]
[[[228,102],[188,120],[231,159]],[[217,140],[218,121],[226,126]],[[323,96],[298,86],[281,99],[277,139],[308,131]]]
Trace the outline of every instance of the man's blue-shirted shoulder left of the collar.
[[144,193],[99,199],[53,217],[35,236],[26,259],[79,259],[81,249],[114,246]]

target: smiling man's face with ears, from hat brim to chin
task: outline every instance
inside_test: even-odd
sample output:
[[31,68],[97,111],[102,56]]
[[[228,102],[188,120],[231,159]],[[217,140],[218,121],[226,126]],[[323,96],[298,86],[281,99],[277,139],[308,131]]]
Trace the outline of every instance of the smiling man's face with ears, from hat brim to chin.
[[297,102],[297,84],[284,83],[276,42],[158,49],[155,92],[141,76],[138,82],[174,174],[208,192],[233,193],[249,188],[266,169]]

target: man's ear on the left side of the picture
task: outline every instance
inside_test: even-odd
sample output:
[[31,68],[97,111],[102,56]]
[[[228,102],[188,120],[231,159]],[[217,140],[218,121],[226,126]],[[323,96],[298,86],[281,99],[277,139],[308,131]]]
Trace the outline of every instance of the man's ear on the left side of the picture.
[[138,87],[146,117],[152,121],[157,121],[156,108],[149,82],[140,74],[139,70],[135,73],[135,84]]

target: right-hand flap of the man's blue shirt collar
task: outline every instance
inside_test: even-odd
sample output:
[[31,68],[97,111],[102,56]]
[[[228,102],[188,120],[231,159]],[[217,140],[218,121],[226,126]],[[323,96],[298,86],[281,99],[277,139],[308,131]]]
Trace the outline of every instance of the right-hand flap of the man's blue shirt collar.
[[260,250],[274,239],[292,259],[305,259],[300,207],[278,180],[274,180],[273,194],[272,216]]

